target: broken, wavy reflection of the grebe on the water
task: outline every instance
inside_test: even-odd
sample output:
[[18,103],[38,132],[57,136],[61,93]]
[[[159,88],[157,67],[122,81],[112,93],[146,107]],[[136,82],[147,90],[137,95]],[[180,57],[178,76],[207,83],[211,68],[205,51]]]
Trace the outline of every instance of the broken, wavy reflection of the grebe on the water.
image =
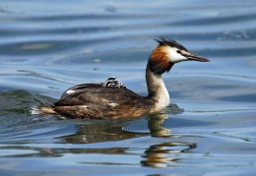
[[[184,141],[179,142],[179,136],[171,135],[171,131],[163,127],[164,120],[169,118],[170,114],[182,112],[183,110],[176,105],[171,105],[168,109],[165,109],[158,114],[147,116],[146,119],[148,119],[148,128],[150,132],[131,132],[124,129],[124,127],[145,118],[141,117],[132,119],[131,121],[96,121],[96,123],[95,121],[92,121],[92,123],[89,124],[79,125],[76,134],[65,136],[61,139],[70,144],[93,144],[147,136],[161,138],[164,139],[164,143],[159,143],[146,148],[142,154],[141,165],[150,167],[168,167],[170,164],[179,160],[175,155],[176,153],[188,152],[197,147],[196,144],[193,143]],[[129,147],[80,148],[78,150],[73,150],[73,152],[123,154],[127,149],[129,149]]]

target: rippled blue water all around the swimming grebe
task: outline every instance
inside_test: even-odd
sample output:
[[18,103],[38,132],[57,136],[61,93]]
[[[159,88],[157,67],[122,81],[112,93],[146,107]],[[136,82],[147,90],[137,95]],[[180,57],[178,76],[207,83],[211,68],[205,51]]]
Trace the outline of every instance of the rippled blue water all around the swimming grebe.
[[[0,175],[255,175],[255,1],[2,1],[0,24]],[[165,113],[29,113],[111,76],[146,95],[160,36],[212,60],[163,76]]]

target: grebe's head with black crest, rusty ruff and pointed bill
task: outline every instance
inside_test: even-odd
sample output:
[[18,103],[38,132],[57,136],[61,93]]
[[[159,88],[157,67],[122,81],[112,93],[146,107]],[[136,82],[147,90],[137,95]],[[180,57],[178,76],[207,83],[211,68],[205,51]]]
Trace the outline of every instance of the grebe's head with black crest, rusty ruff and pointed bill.
[[168,72],[181,61],[209,62],[210,60],[189,52],[183,45],[172,39],[156,39],[159,46],[152,52],[148,67],[156,74]]

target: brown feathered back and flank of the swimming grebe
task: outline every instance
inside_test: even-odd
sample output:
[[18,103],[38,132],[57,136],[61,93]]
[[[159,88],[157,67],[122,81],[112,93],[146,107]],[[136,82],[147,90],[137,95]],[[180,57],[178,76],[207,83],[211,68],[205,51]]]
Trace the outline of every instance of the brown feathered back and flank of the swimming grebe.
[[[145,101],[149,104],[148,108],[145,106]],[[149,113],[150,105],[153,104],[154,102],[149,98],[127,88],[88,87],[65,95],[54,102],[50,109],[55,113],[76,119],[119,119]],[[41,107],[41,111],[48,112],[49,108]]]

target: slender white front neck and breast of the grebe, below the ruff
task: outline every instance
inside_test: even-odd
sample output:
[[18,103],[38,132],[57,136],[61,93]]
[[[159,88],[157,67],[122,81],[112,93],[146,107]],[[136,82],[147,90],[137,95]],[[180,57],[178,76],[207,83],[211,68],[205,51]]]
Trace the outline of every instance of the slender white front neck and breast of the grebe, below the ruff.
[[149,66],[146,69],[146,82],[148,86],[148,98],[154,101],[152,111],[158,111],[170,103],[169,93],[161,79],[160,74],[155,74]]

